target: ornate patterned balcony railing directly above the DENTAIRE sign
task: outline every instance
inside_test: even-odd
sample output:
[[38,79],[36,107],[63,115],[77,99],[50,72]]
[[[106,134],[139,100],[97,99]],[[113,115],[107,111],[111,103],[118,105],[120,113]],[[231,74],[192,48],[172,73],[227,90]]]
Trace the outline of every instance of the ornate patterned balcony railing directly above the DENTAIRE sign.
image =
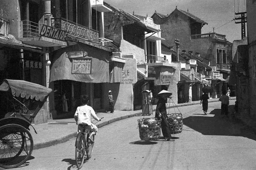
[[52,26],[85,40],[99,40],[99,32],[65,18],[52,18]]

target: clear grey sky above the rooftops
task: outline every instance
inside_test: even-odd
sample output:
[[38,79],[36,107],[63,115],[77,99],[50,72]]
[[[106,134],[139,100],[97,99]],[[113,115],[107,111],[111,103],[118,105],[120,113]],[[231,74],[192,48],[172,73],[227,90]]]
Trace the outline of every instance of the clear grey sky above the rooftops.
[[[241,40],[241,24],[236,24],[235,11],[246,11],[246,0],[104,0],[112,6],[125,12],[151,17],[154,12],[164,15],[172,13],[177,8],[190,12],[207,22],[202,33],[226,35],[229,42]],[[161,27],[160,27],[161,28]],[[247,30],[246,30],[247,35]]]

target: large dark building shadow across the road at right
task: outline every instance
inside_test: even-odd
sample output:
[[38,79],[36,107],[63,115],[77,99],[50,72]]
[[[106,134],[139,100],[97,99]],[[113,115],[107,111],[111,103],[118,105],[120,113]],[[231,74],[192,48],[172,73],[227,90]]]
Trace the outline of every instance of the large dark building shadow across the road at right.
[[[229,113],[233,112],[234,105],[229,106]],[[253,128],[235,121],[234,117],[220,115],[221,109],[216,108],[207,115],[193,114],[183,119],[183,124],[203,135],[241,136],[256,140]],[[213,116],[212,116],[213,115]]]

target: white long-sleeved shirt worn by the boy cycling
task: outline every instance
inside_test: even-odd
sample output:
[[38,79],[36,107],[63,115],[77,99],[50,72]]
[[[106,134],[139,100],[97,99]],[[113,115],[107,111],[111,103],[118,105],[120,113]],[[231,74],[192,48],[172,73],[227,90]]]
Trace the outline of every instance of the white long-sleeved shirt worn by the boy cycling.
[[91,126],[91,116],[95,120],[100,121],[100,119],[95,114],[93,108],[91,106],[88,106],[88,105],[78,106],[76,108],[75,116],[77,116],[76,124],[86,123],[89,126]]

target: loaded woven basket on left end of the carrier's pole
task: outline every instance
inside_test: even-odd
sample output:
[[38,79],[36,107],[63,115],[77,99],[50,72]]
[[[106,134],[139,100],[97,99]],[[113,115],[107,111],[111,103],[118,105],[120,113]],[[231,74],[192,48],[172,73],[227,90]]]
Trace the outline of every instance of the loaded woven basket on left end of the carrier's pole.
[[161,120],[156,118],[143,118],[138,120],[140,139],[157,140],[161,135]]

